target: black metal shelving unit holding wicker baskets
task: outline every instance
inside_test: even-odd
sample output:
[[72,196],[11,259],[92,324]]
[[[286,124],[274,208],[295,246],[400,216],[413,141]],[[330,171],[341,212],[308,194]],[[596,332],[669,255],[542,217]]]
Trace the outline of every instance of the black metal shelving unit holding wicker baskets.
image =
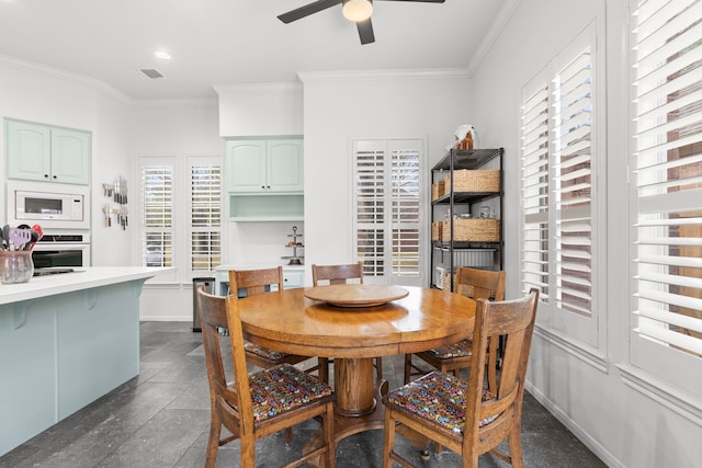
[[502,270],[502,148],[451,149],[431,170],[431,287],[457,266]]

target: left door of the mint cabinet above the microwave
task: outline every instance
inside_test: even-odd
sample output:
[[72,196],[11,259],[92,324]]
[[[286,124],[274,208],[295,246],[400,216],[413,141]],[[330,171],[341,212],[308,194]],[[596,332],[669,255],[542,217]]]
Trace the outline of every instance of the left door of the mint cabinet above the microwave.
[[8,178],[50,181],[50,130],[44,125],[7,121]]

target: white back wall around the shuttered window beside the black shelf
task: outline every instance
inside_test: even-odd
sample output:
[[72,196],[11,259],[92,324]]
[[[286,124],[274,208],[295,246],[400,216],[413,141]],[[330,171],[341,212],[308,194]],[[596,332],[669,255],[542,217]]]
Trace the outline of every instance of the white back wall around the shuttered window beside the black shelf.
[[[355,261],[351,141],[424,138],[422,180],[429,181],[428,170],[444,155],[456,127],[471,122],[467,73],[304,73],[301,78],[305,87],[305,262],[349,263]],[[424,189],[428,204],[431,186]],[[424,225],[429,239],[429,221]],[[427,270],[424,265],[422,274]]]

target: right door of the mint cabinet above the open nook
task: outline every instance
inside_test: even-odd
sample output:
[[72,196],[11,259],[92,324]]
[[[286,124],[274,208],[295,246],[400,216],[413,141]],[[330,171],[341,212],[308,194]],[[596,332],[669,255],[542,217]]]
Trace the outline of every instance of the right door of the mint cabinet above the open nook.
[[268,162],[268,186],[271,192],[304,191],[301,139],[270,140]]

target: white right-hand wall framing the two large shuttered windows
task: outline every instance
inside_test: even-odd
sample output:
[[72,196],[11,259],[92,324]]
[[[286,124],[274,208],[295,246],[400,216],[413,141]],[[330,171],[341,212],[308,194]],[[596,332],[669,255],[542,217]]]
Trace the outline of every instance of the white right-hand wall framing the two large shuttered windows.
[[[603,341],[590,354],[567,341],[554,340],[557,331],[535,333],[529,389],[609,466],[699,466],[699,398],[676,395],[671,387],[669,395],[638,391],[631,378],[627,383],[623,376],[623,370],[631,367],[629,246],[627,237],[622,235],[629,231],[626,8],[626,0],[522,0],[473,77],[473,123],[482,130],[482,146],[506,149],[507,296],[517,297],[520,90],[588,23],[596,21],[600,38],[605,35],[600,41],[605,47],[597,53],[605,54],[608,67],[607,76],[601,77],[605,83],[597,83],[599,92],[607,92],[607,109],[599,114],[607,118],[607,181],[602,181],[600,196],[609,192],[607,281],[604,290],[598,292],[607,296],[603,310],[599,310]],[[644,378],[656,380],[653,376]],[[664,381],[656,385],[667,387]],[[677,398],[682,402],[670,404]]]

